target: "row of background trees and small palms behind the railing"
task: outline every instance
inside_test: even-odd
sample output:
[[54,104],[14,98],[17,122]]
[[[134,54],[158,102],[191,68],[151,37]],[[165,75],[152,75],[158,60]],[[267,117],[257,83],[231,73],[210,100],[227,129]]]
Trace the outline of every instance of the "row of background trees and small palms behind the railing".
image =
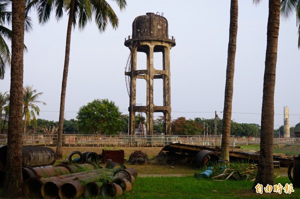
[[[33,86],[23,88],[23,122],[24,133],[27,134],[56,134],[58,121],[36,118],[39,115],[39,107],[36,103],[45,104],[37,98],[42,92],[37,92]],[[8,101],[9,94],[0,92],[0,133],[7,133],[8,123]],[[200,118],[186,119],[178,117],[172,119],[171,129],[175,135],[221,135],[223,119]],[[137,114],[135,126],[138,128],[145,124],[145,117]],[[255,123],[238,123],[231,121],[230,135],[237,137],[259,136],[260,126]],[[215,130],[216,126],[216,130]],[[154,133],[162,134],[163,117],[158,116],[153,123]],[[128,114],[121,114],[118,106],[108,99],[94,99],[79,108],[76,119],[64,119],[63,134],[120,134],[128,132]],[[290,127],[290,131],[300,130],[300,122]],[[274,137],[278,137],[278,132],[283,134],[283,125],[274,129]]]

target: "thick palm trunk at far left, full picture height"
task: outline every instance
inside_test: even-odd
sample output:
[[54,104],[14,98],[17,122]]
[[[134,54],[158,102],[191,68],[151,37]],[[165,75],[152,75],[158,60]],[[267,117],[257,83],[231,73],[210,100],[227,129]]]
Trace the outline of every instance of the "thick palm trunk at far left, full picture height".
[[6,172],[2,196],[21,195],[22,179],[22,97],[25,0],[12,0],[10,100],[7,133]]

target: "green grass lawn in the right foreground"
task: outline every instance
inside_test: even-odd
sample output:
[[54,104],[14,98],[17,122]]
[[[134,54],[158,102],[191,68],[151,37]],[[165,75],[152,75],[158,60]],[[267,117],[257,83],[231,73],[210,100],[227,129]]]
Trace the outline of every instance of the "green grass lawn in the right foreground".
[[[275,184],[290,183],[287,177],[280,177]],[[253,181],[227,180],[213,181],[186,177],[140,177],[132,184],[128,193],[119,198],[299,198],[300,190],[294,188],[290,194],[284,193],[256,193],[250,191]]]

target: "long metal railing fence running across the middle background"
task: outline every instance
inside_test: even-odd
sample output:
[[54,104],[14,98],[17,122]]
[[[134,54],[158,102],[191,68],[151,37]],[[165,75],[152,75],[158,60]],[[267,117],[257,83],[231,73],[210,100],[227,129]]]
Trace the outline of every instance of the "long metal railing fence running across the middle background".
[[[56,145],[57,135],[26,134],[23,136],[23,145]],[[90,134],[63,134],[64,146],[164,146],[172,142],[215,146],[221,145],[221,136],[203,135],[90,135]],[[230,146],[236,144],[257,144],[259,137],[230,136]],[[7,144],[7,134],[0,134],[0,145]],[[300,137],[274,138],[274,144],[300,144]]]

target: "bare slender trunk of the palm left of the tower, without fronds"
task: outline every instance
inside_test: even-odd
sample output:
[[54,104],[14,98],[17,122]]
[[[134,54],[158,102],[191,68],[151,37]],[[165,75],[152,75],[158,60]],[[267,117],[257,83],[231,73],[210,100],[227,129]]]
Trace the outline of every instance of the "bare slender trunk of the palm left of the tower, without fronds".
[[58,121],[58,132],[57,132],[57,145],[56,145],[56,159],[62,159],[62,129],[64,120],[64,101],[65,101],[65,91],[66,91],[66,80],[70,56],[70,42],[71,42],[71,31],[73,23],[75,0],[70,2],[70,12],[67,22],[66,30],[66,41],[65,41],[65,55],[64,55],[64,65],[62,74],[62,84],[61,84],[61,94],[60,94],[60,109],[59,109],[59,121]]

